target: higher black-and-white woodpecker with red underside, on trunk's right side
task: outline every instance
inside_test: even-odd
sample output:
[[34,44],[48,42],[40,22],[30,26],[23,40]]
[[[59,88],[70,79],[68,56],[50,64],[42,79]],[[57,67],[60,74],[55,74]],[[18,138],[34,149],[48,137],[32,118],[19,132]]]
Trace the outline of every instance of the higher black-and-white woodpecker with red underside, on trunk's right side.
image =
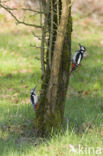
[[72,69],[70,74],[80,65],[80,62],[83,59],[86,48],[79,43],[80,49],[74,54],[72,59]]

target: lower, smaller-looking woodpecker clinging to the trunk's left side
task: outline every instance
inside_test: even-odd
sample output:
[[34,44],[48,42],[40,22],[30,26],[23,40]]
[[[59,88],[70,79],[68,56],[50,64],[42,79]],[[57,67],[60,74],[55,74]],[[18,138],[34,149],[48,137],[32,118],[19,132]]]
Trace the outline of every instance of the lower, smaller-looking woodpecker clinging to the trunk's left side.
[[31,90],[31,103],[34,110],[37,110],[38,107],[38,96],[36,95],[36,87]]

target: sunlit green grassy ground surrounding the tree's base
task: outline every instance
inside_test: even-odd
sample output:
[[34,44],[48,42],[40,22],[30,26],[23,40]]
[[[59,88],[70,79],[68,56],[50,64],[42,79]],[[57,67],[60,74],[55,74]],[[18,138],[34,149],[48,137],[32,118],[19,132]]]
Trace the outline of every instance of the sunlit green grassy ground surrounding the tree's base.
[[1,25],[0,156],[103,154],[103,28],[82,19],[78,23],[73,28],[72,51],[80,42],[87,57],[70,78],[66,130],[46,141],[33,135],[35,112],[29,100],[31,88],[37,85],[38,93],[40,89],[40,52],[30,47],[39,42],[28,28]]

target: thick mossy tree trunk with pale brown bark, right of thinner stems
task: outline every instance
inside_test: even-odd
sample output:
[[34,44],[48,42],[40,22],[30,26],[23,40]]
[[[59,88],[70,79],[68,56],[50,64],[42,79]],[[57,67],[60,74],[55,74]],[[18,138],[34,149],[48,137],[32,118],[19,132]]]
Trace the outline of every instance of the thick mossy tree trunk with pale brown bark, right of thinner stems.
[[[47,66],[41,87],[35,126],[40,136],[60,130],[63,123],[69,67],[71,56],[71,8],[70,0],[59,2],[60,23],[57,27],[55,44],[52,43],[52,64]],[[54,18],[55,20],[56,18]],[[54,21],[57,24],[57,20]],[[54,30],[55,31],[55,30]],[[54,48],[53,48],[54,47]]]

